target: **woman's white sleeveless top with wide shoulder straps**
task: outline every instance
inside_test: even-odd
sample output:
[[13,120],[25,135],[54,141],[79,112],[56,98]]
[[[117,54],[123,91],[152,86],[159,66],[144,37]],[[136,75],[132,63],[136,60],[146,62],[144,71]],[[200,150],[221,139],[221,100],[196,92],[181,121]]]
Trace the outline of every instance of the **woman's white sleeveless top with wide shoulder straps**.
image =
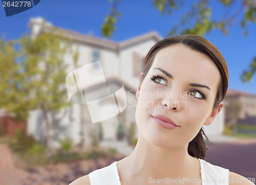
[[[228,185],[228,169],[212,165],[201,158],[200,161],[200,168],[201,168],[201,179],[175,179],[176,183],[183,183],[183,184],[193,184],[197,182],[201,182],[202,185]],[[91,185],[121,185],[119,180],[119,174],[117,171],[117,162],[112,163],[111,165],[95,170],[89,173],[90,183]],[[151,180],[151,181],[150,181]],[[154,181],[155,180],[155,183]],[[148,179],[148,182],[157,184],[156,180],[163,180],[162,183],[174,183],[172,179],[165,178],[165,179]],[[164,181],[168,180],[168,181]],[[174,179],[173,179],[174,180]],[[179,181],[178,181],[179,180]],[[190,181],[189,181],[190,180]],[[160,181],[158,182],[160,183]]]

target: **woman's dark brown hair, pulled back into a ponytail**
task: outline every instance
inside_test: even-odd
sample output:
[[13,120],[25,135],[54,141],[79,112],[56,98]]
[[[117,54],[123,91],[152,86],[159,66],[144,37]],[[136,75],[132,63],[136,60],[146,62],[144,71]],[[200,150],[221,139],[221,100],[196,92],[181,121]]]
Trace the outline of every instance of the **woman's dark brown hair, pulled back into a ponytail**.
[[[227,92],[227,87],[228,87],[227,64],[226,64],[226,61],[225,61],[224,57],[222,56],[221,52],[219,51],[219,49],[214,44],[212,44],[211,42],[209,42],[208,40],[206,40],[200,36],[192,35],[192,34],[173,36],[173,37],[169,37],[169,38],[166,38],[166,39],[163,39],[163,40],[157,42],[150,49],[150,51],[148,51],[148,53],[145,57],[144,64],[143,64],[143,74],[141,76],[140,83],[143,82],[148,70],[151,68],[157,52],[164,47],[171,46],[171,45],[178,44],[178,43],[184,44],[185,46],[187,46],[193,50],[196,50],[196,51],[201,52],[202,54],[205,54],[218,67],[220,74],[221,74],[221,81],[219,83],[219,87],[218,87],[218,91],[216,94],[214,107],[213,107],[213,109],[218,109],[219,103],[223,100],[223,98],[225,97],[226,92]],[[207,141],[209,143],[209,140],[208,140],[207,136],[205,135],[203,127],[202,127],[200,129],[199,133],[197,134],[197,136],[192,141],[190,141],[188,144],[187,150],[188,150],[189,155],[204,159],[206,150],[208,149],[208,147],[206,148],[203,136],[205,136],[205,138],[207,139]]]

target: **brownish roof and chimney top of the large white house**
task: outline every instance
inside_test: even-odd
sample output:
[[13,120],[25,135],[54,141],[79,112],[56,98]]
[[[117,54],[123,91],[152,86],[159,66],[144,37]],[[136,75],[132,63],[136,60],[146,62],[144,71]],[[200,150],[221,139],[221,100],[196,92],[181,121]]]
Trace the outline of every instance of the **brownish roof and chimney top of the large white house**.
[[[34,25],[41,25],[40,33],[46,33],[50,31],[50,29],[55,28],[51,23],[46,22],[43,18],[40,18],[40,17],[30,19],[29,27],[33,28]],[[146,33],[131,39],[127,39],[121,42],[115,42],[109,39],[98,38],[92,35],[85,35],[75,31],[71,31],[71,30],[66,30],[61,28],[56,28],[56,29],[58,32],[63,33],[65,37],[71,38],[74,41],[90,44],[90,45],[94,45],[97,47],[102,47],[110,50],[115,50],[115,51],[118,51],[124,47],[129,47],[131,45],[134,45],[146,40],[150,40],[150,39],[153,39],[156,42],[162,40],[162,37],[155,31]]]

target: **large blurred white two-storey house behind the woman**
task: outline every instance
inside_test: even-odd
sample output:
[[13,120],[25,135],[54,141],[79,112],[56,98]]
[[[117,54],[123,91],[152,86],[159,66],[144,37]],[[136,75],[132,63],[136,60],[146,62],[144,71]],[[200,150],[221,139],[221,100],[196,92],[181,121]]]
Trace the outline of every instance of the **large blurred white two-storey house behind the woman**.
[[[33,36],[48,32],[53,26],[46,22],[42,27],[41,18],[31,19],[29,27]],[[97,38],[92,35],[84,35],[74,31],[57,28],[65,37],[72,39],[72,48],[79,52],[78,67],[101,61],[105,78],[111,79],[113,83],[122,82],[127,97],[127,108],[118,116],[104,120],[100,123],[91,122],[88,108],[84,105],[73,104],[72,108],[63,109],[60,113],[49,115],[51,125],[51,137],[54,146],[58,147],[58,141],[72,138],[74,144],[84,141],[91,144],[95,137],[100,139],[100,146],[112,146],[117,143],[117,134],[123,134],[123,142],[127,145],[127,139],[131,134],[132,125],[135,124],[136,90],[139,84],[140,73],[143,69],[144,58],[150,48],[162,38],[156,32],[140,35],[125,41],[115,42],[107,39]],[[67,54],[65,62],[69,64],[67,74],[75,68],[72,56]],[[95,66],[97,68],[97,66]],[[68,96],[67,96],[68,100]],[[223,131],[224,118],[220,116],[209,129],[212,135],[221,134]],[[134,137],[138,137],[138,129],[135,126]],[[130,131],[129,131],[130,130]],[[44,119],[42,113],[31,112],[28,120],[28,134],[37,140],[44,142],[46,137]]]

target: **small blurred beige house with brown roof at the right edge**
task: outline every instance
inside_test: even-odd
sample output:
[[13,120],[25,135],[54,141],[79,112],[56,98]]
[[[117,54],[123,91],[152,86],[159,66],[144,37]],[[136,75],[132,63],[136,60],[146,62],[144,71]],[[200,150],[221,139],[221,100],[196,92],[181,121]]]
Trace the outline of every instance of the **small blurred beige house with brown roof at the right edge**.
[[[256,94],[229,89],[224,101],[227,99],[232,101],[231,106],[234,106],[233,103],[240,105],[237,114],[238,124],[256,125]],[[226,103],[227,106],[229,102]]]

